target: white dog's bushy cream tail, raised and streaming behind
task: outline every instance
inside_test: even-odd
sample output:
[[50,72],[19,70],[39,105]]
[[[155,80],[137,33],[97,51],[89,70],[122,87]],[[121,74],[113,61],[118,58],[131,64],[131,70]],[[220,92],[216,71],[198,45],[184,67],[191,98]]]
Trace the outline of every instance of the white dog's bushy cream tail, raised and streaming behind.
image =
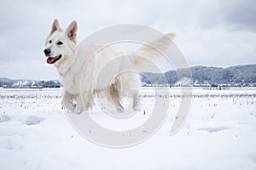
[[138,71],[159,72],[157,66],[163,60],[164,54],[174,39],[174,33],[168,33],[160,39],[148,42],[135,52],[138,57],[132,59],[133,65]]

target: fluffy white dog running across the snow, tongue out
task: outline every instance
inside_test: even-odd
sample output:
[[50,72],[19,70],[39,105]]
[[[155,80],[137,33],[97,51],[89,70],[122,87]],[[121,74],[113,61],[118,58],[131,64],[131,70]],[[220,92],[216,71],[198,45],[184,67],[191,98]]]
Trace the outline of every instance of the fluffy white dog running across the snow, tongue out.
[[[174,34],[166,34],[149,42],[149,46],[143,45],[136,51],[126,53],[113,46],[99,47],[83,42],[76,45],[77,30],[76,21],[62,31],[58,20],[54,20],[45,42],[47,63],[55,65],[63,85],[61,105],[77,113],[87,111],[94,105],[96,94],[103,92],[117,111],[124,111],[120,101],[129,94],[136,111],[139,106],[140,77],[135,72],[122,73],[126,70],[155,71],[154,66],[146,60],[160,61],[162,54],[154,48],[166,51]],[[151,45],[154,48],[150,48]],[[119,57],[124,54],[126,57]],[[97,82],[99,79],[101,83]]]

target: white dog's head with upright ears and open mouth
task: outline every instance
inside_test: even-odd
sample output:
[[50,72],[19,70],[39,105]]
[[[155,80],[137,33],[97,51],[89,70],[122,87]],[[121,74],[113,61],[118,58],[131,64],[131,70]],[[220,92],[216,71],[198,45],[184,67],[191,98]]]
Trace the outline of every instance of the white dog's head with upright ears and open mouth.
[[73,21],[66,31],[62,31],[59,21],[54,20],[44,48],[48,64],[58,65],[73,53],[76,45],[77,30],[78,25],[76,21]]

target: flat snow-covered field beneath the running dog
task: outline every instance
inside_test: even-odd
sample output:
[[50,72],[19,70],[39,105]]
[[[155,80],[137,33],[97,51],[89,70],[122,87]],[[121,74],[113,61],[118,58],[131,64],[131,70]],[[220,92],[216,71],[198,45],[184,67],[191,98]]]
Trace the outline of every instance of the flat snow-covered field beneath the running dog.
[[[179,88],[170,90],[170,113],[159,131],[142,144],[113,149],[74,130],[61,110],[61,89],[0,88],[0,169],[256,169],[256,88],[195,88],[187,121],[174,136],[183,96]],[[154,103],[150,89],[142,94],[132,122],[113,121],[100,108],[89,114],[110,129],[136,127]]]

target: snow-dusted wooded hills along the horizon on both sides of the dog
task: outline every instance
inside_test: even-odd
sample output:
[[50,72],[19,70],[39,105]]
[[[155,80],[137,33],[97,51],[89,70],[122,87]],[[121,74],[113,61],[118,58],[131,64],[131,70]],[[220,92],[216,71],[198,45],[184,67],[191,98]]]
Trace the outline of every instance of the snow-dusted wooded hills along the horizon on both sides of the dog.
[[[256,65],[236,65],[227,68],[212,66],[193,66],[189,68],[192,79],[186,69],[166,71],[164,74],[142,72],[143,86],[231,86],[256,87]],[[177,72],[179,72],[179,76]],[[0,87],[4,88],[60,88],[61,82],[12,80],[0,78]]]

